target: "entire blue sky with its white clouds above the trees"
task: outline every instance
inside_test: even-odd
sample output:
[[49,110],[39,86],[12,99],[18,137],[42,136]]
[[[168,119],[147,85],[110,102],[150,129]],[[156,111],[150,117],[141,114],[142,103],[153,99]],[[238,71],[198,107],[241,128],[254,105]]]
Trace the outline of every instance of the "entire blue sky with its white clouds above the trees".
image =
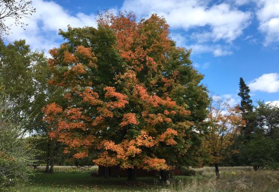
[[[63,41],[59,28],[96,26],[98,11],[152,13],[170,24],[177,45],[192,48],[195,68],[213,95],[239,101],[239,77],[254,101],[279,103],[279,0],[33,0],[37,12],[24,18],[26,30],[12,26],[9,41],[26,39],[48,50]],[[12,21],[7,21],[12,23]]]

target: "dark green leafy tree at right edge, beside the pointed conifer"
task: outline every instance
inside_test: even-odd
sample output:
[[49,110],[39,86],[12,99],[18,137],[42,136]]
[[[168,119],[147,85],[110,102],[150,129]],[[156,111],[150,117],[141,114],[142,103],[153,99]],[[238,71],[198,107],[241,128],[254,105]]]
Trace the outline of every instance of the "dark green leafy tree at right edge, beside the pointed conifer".
[[242,146],[241,158],[248,165],[258,168],[279,168],[279,107],[258,102],[258,126],[249,143]]

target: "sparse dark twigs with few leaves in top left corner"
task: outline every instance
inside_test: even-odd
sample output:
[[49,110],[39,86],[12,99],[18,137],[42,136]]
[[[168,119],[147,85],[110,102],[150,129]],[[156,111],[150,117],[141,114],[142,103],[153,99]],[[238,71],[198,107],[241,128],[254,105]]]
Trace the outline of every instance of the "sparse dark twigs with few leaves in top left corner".
[[31,0],[0,0],[0,38],[9,34],[10,25],[6,20],[13,20],[14,24],[24,27],[22,19],[32,15],[36,9]]

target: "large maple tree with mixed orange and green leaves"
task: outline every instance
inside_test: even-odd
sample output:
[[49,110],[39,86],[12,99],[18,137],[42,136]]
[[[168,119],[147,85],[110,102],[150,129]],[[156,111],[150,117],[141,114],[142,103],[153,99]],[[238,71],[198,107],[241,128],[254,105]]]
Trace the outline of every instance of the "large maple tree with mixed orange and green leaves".
[[96,165],[169,170],[203,164],[201,122],[208,95],[191,50],[168,37],[162,17],[100,15],[98,28],[60,31],[66,43],[49,51],[63,106],[44,107],[50,137],[74,158],[94,150]]

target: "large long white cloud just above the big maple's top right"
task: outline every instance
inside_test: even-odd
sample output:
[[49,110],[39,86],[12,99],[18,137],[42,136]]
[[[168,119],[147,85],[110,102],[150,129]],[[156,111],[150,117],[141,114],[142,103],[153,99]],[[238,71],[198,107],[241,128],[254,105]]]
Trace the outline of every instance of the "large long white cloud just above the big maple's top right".
[[164,16],[173,28],[188,30],[208,26],[203,34],[208,41],[232,42],[243,32],[251,19],[250,12],[232,8],[228,3],[209,5],[209,0],[125,0],[123,10],[132,10],[137,15],[152,13]]

